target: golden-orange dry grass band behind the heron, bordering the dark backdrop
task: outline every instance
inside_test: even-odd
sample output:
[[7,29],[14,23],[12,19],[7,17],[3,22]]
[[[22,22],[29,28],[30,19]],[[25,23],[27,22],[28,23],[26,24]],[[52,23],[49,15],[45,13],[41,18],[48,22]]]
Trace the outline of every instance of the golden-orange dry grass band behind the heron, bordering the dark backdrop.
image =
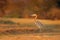
[[[13,22],[16,23],[31,23],[34,22],[34,19],[24,19],[24,18],[0,18],[0,19],[4,19],[4,20],[11,20]],[[60,20],[40,20],[38,19],[40,22],[44,23],[44,24],[60,24]]]

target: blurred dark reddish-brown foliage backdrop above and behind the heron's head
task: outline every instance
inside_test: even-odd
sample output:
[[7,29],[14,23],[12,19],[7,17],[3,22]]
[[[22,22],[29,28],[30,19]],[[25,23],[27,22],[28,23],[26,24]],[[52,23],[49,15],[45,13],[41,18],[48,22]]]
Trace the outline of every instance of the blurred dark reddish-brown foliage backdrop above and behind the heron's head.
[[0,0],[0,17],[60,19],[60,0]]

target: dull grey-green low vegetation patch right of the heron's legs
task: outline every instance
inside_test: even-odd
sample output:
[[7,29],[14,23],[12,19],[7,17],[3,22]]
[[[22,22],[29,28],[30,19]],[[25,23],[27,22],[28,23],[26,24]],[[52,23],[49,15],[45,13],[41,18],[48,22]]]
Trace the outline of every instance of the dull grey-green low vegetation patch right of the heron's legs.
[[57,32],[57,33],[60,33],[60,25],[45,25],[44,32],[48,32],[48,33]]

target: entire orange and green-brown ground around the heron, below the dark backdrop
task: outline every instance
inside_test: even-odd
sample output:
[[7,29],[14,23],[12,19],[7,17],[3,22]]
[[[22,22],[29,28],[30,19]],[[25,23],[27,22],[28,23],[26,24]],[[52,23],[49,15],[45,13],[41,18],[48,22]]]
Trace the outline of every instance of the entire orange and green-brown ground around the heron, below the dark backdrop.
[[60,20],[39,20],[44,24],[43,33],[34,25],[33,19],[3,18],[3,20],[9,22],[4,21],[0,24],[0,40],[60,40]]

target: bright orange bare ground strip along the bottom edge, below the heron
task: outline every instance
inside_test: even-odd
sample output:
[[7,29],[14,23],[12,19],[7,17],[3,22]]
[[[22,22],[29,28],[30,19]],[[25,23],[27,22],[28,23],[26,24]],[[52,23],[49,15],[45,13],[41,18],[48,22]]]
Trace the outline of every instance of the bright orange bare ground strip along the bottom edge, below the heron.
[[60,40],[60,35],[32,35],[32,34],[23,34],[23,35],[8,35],[0,36],[0,40]]

